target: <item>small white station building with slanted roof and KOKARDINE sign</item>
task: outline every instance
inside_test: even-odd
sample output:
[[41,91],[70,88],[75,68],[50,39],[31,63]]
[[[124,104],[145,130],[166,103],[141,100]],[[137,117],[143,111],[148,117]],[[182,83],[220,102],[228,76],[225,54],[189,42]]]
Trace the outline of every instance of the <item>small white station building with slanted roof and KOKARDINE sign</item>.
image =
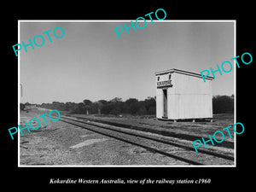
[[212,79],[175,68],[155,73],[157,119],[212,119]]

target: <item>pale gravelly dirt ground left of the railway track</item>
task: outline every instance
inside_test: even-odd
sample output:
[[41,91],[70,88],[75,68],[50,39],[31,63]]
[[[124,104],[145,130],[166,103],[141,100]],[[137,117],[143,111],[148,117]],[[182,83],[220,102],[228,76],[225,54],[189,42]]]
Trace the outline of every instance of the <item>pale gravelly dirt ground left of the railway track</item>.
[[[38,109],[22,112],[20,126],[43,113],[46,111]],[[61,121],[53,122],[47,116],[46,120],[48,125],[42,120],[38,130],[24,130],[20,135],[20,166],[187,165]],[[37,123],[32,125],[38,127]]]

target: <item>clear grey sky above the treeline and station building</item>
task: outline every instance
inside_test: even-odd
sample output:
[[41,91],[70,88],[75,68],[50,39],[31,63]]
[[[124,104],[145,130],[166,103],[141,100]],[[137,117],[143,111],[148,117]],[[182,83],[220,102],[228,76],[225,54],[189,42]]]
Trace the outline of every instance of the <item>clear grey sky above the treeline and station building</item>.
[[[131,21],[108,22],[20,20],[20,44],[29,38],[44,37],[44,45],[22,47],[20,57],[20,102],[83,102],[121,97],[144,100],[155,96],[154,73],[177,68],[201,73],[217,69],[234,55],[234,22],[177,22],[147,20],[143,29],[114,32]],[[140,23],[143,26],[143,23]],[[65,34],[55,38],[61,26]],[[49,42],[49,31],[52,42]],[[61,29],[56,29],[61,36]],[[41,38],[36,38],[41,44]],[[233,70],[212,81],[212,95],[231,96]],[[227,67],[228,68],[228,67]],[[228,70],[228,69],[227,69]],[[203,81],[202,81],[203,83]]]

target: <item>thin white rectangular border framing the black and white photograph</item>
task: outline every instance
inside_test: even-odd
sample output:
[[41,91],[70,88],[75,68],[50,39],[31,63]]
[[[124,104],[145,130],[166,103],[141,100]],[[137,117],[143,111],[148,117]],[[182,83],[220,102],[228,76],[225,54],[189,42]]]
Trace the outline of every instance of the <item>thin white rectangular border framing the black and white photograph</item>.
[[[20,44],[20,22],[131,22],[135,20],[18,20],[18,44]],[[137,20],[144,22],[143,20]],[[147,22],[151,20],[147,20]],[[233,22],[234,57],[236,56],[236,20],[154,20],[154,22]],[[235,62],[235,61],[234,61]],[[236,65],[234,65],[236,66]],[[236,67],[234,71],[234,124],[236,124]],[[22,87],[23,91],[23,87]],[[20,54],[18,53],[18,125],[20,125]],[[234,134],[234,165],[232,166],[20,166],[20,131],[18,131],[18,167],[236,167],[236,134]]]

